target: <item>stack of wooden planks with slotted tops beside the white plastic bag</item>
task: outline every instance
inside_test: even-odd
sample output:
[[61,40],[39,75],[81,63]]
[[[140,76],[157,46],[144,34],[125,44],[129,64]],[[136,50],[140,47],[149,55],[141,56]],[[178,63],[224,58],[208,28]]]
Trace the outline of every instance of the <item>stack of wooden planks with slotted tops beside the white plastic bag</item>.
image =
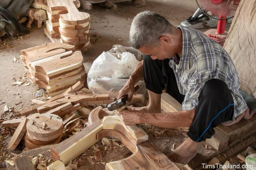
[[31,80],[54,96],[86,79],[82,53],[74,49],[69,44],[49,43],[21,50],[20,58]]

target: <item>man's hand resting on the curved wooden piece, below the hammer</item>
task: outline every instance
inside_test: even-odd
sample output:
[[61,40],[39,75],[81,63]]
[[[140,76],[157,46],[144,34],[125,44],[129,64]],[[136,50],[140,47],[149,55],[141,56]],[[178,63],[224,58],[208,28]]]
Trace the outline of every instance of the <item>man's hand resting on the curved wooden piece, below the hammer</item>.
[[140,123],[140,112],[135,110],[123,110],[120,114],[122,114],[125,125],[131,126]]

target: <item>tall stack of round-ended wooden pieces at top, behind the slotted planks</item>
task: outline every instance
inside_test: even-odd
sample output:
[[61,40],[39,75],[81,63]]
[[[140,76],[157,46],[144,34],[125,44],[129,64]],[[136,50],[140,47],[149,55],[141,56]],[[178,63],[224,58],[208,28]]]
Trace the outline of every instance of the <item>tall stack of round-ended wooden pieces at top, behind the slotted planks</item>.
[[[78,0],[48,0],[45,34],[52,42],[74,45],[76,50],[90,48],[90,15],[79,12]],[[60,39],[59,39],[60,38]]]

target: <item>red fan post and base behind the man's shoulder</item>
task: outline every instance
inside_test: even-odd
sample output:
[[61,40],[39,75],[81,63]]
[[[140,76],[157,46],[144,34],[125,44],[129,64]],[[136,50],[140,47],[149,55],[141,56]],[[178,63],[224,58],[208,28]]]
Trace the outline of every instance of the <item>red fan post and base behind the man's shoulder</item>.
[[[219,16],[219,18],[226,18],[226,16]],[[215,40],[221,46],[223,46],[226,37],[228,35],[228,32],[225,31],[226,29],[226,20],[219,20],[217,29],[209,29],[204,32],[205,35],[207,35],[209,38]]]

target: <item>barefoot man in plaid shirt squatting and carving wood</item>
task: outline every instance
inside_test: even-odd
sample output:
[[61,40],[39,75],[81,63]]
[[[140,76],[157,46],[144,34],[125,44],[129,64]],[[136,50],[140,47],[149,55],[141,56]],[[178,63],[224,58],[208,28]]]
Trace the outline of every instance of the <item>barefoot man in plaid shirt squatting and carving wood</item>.
[[[144,59],[118,98],[128,94],[128,100],[132,99],[135,83],[144,79],[149,104],[122,111],[124,122],[189,127],[188,139],[169,155],[172,161],[188,163],[197,154],[198,142],[210,138],[215,126],[236,120],[247,109],[231,58],[200,31],[174,27],[163,16],[144,11],[132,22],[130,43],[144,54]],[[182,111],[161,113],[164,89],[182,103]]]

